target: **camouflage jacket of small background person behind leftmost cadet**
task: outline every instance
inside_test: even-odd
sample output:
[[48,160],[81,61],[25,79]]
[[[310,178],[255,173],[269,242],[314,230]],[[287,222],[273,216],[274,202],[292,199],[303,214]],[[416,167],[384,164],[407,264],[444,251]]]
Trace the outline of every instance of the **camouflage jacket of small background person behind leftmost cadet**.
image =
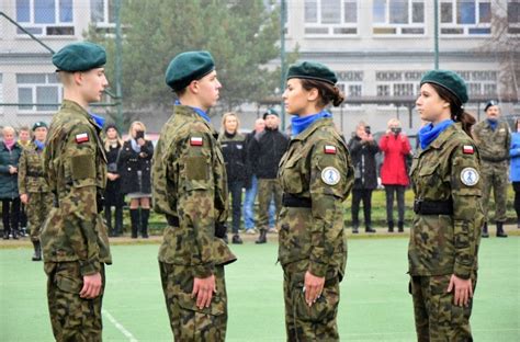
[[31,142],[22,151],[18,167],[18,189],[20,194],[49,192],[43,176],[42,151]]

